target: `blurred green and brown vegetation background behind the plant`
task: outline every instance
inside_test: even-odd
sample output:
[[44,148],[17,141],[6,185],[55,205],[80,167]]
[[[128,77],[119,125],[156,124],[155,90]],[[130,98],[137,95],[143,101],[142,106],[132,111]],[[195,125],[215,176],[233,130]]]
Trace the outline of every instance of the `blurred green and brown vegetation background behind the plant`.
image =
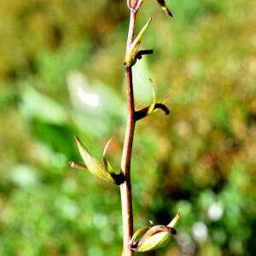
[[[137,108],[151,78],[169,116],[137,123],[134,226],[182,219],[144,255],[255,255],[256,1],[145,1]],[[1,0],[0,255],[120,255],[119,189],[88,172],[73,135],[119,171],[125,133],[125,0]]]

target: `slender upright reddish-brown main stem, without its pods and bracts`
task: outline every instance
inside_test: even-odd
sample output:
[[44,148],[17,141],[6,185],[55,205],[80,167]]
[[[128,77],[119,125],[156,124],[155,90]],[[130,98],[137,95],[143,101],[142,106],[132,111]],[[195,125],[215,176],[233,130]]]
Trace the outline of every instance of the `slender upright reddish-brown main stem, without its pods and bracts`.
[[[134,28],[135,28],[136,13],[131,11],[130,26],[127,38],[127,47],[133,41]],[[132,85],[132,72],[131,67],[125,68],[126,79],[126,130],[125,130],[125,143],[123,148],[121,172],[125,177],[125,182],[120,185],[120,194],[122,201],[123,213],[123,256],[133,256],[133,251],[128,247],[131,236],[133,235],[133,214],[132,214],[132,197],[131,197],[131,148],[135,128],[135,108],[134,96]]]

